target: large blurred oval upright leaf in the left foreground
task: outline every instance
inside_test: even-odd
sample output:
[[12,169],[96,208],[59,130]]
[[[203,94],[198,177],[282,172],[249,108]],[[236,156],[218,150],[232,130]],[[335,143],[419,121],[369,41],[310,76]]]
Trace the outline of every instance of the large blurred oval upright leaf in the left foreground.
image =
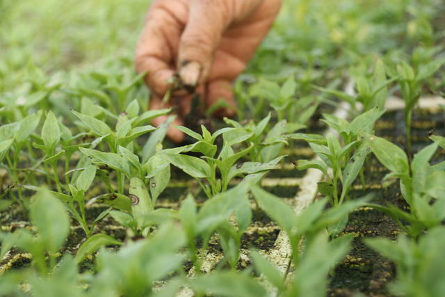
[[49,191],[41,190],[33,197],[29,216],[46,250],[58,252],[70,233],[70,218],[63,203]]

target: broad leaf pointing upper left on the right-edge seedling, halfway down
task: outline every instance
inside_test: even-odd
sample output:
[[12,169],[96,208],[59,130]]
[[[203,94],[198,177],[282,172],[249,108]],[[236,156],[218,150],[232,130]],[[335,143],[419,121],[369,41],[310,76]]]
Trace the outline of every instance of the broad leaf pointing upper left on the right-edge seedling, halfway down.
[[391,170],[391,172],[409,174],[408,159],[400,147],[378,136],[369,135],[364,139],[383,166]]

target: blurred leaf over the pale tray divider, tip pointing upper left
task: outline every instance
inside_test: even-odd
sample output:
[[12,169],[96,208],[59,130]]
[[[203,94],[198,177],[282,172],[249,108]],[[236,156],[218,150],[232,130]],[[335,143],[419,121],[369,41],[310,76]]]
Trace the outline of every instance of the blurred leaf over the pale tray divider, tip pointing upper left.
[[252,193],[259,207],[291,236],[296,220],[296,215],[292,207],[284,203],[280,198],[277,198],[277,196],[264,191],[258,186],[252,186]]

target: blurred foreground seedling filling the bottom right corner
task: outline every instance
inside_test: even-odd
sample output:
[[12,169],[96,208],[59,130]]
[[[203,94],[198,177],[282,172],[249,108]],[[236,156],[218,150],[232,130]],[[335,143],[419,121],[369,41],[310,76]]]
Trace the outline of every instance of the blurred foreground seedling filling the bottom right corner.
[[[443,198],[442,198],[443,199]],[[445,290],[445,229],[428,230],[418,241],[398,235],[389,239],[366,239],[365,243],[396,264],[396,280],[389,290],[400,296],[441,296]]]

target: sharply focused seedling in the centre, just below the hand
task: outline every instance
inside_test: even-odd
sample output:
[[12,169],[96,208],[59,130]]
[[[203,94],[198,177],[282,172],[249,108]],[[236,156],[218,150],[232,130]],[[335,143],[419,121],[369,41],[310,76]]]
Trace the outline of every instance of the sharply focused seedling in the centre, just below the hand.
[[[186,127],[178,127],[178,129],[184,131],[184,133],[195,138],[197,142],[184,147],[160,151],[159,156],[153,156],[152,159],[147,162],[149,168],[168,166],[171,163],[194,177],[208,198],[227,190],[229,182],[234,179],[234,177],[280,168],[277,163],[279,163],[284,156],[279,156],[267,163],[236,163],[254,149],[254,144],[251,143],[248,148],[239,152],[234,152],[232,146],[246,141],[252,134],[241,133],[236,134],[236,137],[234,137],[234,134],[231,132],[235,131],[235,128],[223,128],[210,134],[203,125],[201,127],[202,135]],[[230,136],[225,136],[226,134]],[[218,147],[213,143],[220,135],[223,135],[224,144],[223,147],[220,148],[220,153],[216,156]],[[186,152],[199,152],[203,156],[202,158],[198,158],[196,156],[181,154]],[[217,177],[217,172],[220,174],[220,178]],[[202,182],[202,179],[204,182]]]

